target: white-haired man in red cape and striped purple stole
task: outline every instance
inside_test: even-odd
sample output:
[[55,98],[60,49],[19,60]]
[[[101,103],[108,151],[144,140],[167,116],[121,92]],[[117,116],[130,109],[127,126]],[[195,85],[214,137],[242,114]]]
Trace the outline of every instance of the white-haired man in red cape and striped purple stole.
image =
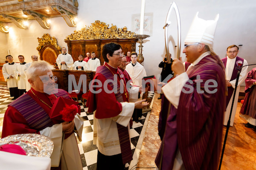
[[3,119],[2,138],[22,133],[48,136],[54,144],[50,157],[51,169],[82,170],[73,130],[76,126],[76,130],[80,132],[78,136],[81,136],[83,120],[79,114],[76,114],[72,122],[59,124],[53,122],[52,116],[50,118],[57,97],[71,99],[66,91],[55,89],[54,82],[50,78],[52,69],[52,65],[43,60],[33,62],[27,69],[26,74],[32,88],[8,105]]

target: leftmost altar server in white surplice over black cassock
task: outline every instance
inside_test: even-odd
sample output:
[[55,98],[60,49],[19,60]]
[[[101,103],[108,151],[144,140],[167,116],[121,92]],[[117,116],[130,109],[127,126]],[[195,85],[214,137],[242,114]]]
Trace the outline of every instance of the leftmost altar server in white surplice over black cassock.
[[18,82],[14,75],[14,69],[17,63],[13,62],[13,58],[11,55],[6,56],[8,63],[3,65],[3,78],[7,82],[7,87],[10,90],[10,96],[14,97],[12,100],[15,100],[19,97],[18,92]]

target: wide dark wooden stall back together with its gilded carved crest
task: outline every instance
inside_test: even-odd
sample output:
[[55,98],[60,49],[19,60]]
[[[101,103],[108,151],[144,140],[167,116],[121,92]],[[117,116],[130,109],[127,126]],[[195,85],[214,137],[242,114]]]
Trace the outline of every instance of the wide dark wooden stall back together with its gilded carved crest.
[[87,52],[95,52],[102,65],[104,62],[102,47],[109,42],[119,43],[125,55],[128,51],[136,50],[138,39],[133,37],[134,32],[128,31],[126,27],[117,28],[113,24],[110,28],[108,27],[106,23],[97,20],[91,26],[75,30],[73,34],[68,35],[65,42],[74,61],[78,59],[79,54],[86,57]]

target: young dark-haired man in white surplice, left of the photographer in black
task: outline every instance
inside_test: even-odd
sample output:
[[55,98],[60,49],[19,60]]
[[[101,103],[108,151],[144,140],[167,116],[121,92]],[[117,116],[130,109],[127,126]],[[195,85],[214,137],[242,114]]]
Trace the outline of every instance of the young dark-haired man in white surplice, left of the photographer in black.
[[126,65],[125,70],[128,72],[132,79],[133,85],[142,85],[143,77],[147,76],[145,68],[139,62],[137,62],[138,54],[136,52],[131,53],[131,63]]

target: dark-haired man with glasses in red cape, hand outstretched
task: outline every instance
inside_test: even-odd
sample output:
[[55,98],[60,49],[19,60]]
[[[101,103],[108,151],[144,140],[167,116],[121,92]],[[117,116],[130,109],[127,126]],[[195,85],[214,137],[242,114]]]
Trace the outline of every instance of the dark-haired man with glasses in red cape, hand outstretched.
[[118,66],[122,48],[118,43],[108,43],[102,51],[105,64],[99,66],[90,86],[86,106],[94,112],[93,144],[98,147],[98,170],[122,170],[132,160],[129,122],[134,108],[148,105],[145,100],[128,102],[125,78]]

